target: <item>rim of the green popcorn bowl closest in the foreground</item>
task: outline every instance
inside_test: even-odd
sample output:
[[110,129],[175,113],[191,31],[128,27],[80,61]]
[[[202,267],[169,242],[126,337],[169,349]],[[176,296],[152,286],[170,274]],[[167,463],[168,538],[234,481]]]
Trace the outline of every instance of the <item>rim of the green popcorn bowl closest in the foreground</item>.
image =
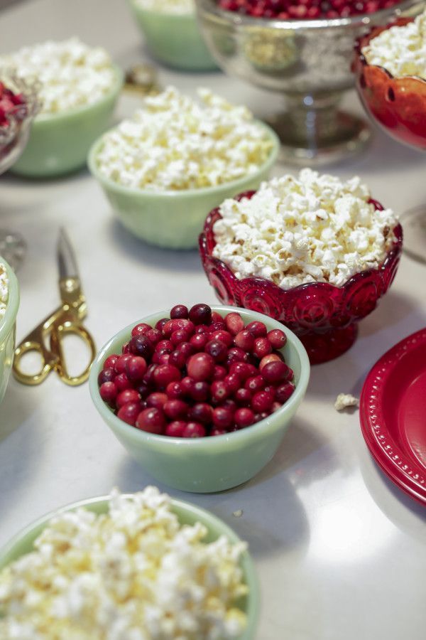
[[[123,495],[131,496],[133,494],[126,492]],[[200,518],[200,521],[204,523],[205,526],[207,526],[207,529],[209,529],[211,526],[219,529],[219,535],[226,535],[226,538],[228,538],[233,545],[242,542],[239,535],[237,535],[237,533],[229,525],[227,525],[221,518],[219,518],[219,516],[216,516],[211,511],[207,511],[207,509],[197,506],[196,504],[193,504],[191,502],[177,500],[175,498],[172,498],[171,496],[170,500],[173,509],[180,509],[181,511],[186,511],[187,513],[192,514],[196,518]],[[84,498],[83,500],[78,500],[76,502],[72,502],[65,506],[54,509],[53,511],[49,511],[48,513],[45,513],[44,516],[40,516],[40,518],[37,518],[32,523],[19,530],[18,533],[13,535],[9,542],[6,543],[6,545],[0,548],[0,572],[1,570],[3,570],[3,568],[9,566],[9,562],[6,564],[4,563],[6,556],[13,551],[13,548],[15,548],[16,545],[21,543],[23,538],[26,538],[27,535],[31,534],[31,532],[35,528],[38,528],[42,525],[47,526],[48,521],[50,521],[54,516],[58,516],[58,514],[60,513],[64,513],[66,511],[74,511],[77,508],[84,508],[89,505],[97,505],[99,503],[106,503],[108,501],[109,496]],[[26,554],[21,554],[18,556],[18,558],[21,558],[23,555]],[[249,594],[247,595],[247,605],[245,611],[247,615],[246,633],[249,633],[251,629],[256,629],[256,626],[258,624],[261,589],[256,572],[256,567],[253,558],[249,553],[249,550],[246,550],[241,554],[241,564],[243,565],[244,581],[249,587]]]

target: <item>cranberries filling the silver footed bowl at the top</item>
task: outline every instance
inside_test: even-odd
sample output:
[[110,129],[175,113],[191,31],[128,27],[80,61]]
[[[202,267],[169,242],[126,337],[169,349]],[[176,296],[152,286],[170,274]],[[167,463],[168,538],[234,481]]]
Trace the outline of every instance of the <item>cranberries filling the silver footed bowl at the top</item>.
[[218,0],[226,11],[238,11],[254,18],[315,20],[374,14],[399,4],[400,0]]

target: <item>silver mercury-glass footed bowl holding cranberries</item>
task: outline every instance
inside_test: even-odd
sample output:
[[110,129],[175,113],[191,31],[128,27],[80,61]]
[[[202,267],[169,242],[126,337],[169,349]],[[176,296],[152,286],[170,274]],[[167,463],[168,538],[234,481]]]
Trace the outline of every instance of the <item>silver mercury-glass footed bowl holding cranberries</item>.
[[[268,119],[290,164],[319,166],[364,148],[366,122],[339,110],[354,86],[354,44],[393,16],[415,16],[423,1],[405,0],[375,14],[317,20],[251,18],[195,0],[204,40],[229,75],[283,95],[283,112]],[[284,101],[283,101],[284,102]]]

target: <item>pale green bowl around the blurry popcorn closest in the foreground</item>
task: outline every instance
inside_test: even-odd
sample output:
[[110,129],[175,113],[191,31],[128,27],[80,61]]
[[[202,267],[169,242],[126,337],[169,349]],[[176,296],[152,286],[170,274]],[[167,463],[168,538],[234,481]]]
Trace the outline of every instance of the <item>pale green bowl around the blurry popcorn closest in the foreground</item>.
[[[21,555],[31,553],[35,538],[40,535],[53,516],[57,516],[58,513],[63,513],[64,511],[75,511],[75,509],[80,507],[87,508],[94,513],[107,513],[108,502],[109,499],[107,496],[89,498],[61,507],[57,511],[52,511],[46,516],[39,518],[15,535],[10,542],[0,550],[0,571],[14,560],[20,558]],[[180,524],[193,525],[196,522],[204,524],[207,528],[207,535],[206,538],[204,538],[204,542],[206,543],[217,540],[220,535],[226,535],[226,538],[228,538],[233,545],[241,542],[241,539],[229,526],[212,513],[209,513],[209,511],[205,511],[198,506],[180,500],[172,500],[172,508],[178,516]],[[249,593],[246,597],[241,598],[239,602],[236,602],[236,606],[244,611],[247,616],[246,631],[236,640],[253,640],[258,624],[260,588],[253,560],[247,551],[241,555],[240,566],[243,571],[244,582],[249,587]]]

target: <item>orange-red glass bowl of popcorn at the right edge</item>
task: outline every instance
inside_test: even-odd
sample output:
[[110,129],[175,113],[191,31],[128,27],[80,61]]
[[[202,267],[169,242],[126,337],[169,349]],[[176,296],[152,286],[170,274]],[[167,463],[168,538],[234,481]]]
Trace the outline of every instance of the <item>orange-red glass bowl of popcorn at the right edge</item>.
[[361,53],[362,48],[382,31],[412,21],[413,18],[398,18],[359,38],[353,70],[356,89],[366,112],[399,142],[426,149],[426,80],[416,76],[394,78],[383,67],[369,65]]

